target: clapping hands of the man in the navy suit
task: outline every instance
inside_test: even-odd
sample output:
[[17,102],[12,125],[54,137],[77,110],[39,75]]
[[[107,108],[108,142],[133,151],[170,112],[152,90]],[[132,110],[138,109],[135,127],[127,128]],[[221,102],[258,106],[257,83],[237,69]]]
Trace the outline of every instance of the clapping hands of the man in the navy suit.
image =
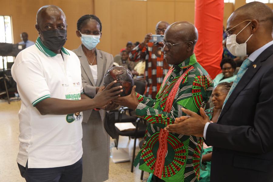
[[210,122],[210,119],[206,115],[204,109],[202,107],[200,108],[201,116],[184,108],[182,108],[182,111],[190,116],[175,118],[175,123],[168,125],[164,128],[164,130],[170,133],[203,137],[205,124]]

